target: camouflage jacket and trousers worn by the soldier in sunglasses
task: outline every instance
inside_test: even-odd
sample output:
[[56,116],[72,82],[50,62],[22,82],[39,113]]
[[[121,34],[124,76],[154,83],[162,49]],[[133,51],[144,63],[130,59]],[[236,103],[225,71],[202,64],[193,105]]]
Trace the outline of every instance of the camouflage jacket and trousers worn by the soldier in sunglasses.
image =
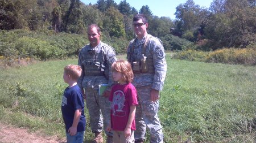
[[[143,51],[143,45],[148,38]],[[159,101],[151,101],[150,90],[162,90],[166,77],[167,65],[162,41],[150,34],[143,37],[141,41],[135,38],[127,49],[127,59],[130,63],[141,61],[144,54],[147,58],[148,71],[146,73],[134,72],[133,85],[138,92],[139,105],[136,108],[134,132],[135,141],[142,141],[145,138],[146,127],[150,131],[150,142],[163,142],[162,125],[158,118]],[[133,65],[134,70],[134,65]]]

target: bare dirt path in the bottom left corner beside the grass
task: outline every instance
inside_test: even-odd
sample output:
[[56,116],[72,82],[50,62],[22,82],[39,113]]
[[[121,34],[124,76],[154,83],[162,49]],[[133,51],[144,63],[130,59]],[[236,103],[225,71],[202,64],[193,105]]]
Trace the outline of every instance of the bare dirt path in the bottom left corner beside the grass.
[[19,143],[63,143],[65,140],[60,140],[56,136],[43,136],[40,133],[30,133],[26,128],[15,128],[9,124],[0,123],[0,142],[19,142]]

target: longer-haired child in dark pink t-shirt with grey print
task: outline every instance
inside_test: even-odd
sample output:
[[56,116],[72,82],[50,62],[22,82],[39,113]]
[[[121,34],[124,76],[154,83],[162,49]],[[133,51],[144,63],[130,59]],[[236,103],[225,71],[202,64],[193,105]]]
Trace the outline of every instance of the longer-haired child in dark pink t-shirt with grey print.
[[137,91],[131,84],[131,64],[125,60],[118,60],[112,64],[111,70],[113,80],[118,84],[113,85],[109,97],[112,106],[111,122],[107,131],[113,130],[114,143],[134,142],[134,117],[138,101]]

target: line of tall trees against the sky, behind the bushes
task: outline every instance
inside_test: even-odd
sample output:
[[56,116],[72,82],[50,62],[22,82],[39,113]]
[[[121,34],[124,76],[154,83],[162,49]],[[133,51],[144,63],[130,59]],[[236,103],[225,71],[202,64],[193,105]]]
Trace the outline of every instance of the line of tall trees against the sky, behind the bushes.
[[97,23],[105,37],[129,41],[134,38],[133,15],[138,13],[147,16],[148,33],[159,37],[166,50],[256,45],[256,0],[213,0],[209,8],[187,0],[176,6],[174,20],[155,16],[147,5],[137,11],[126,0],[89,5],[80,0],[1,0],[0,29],[85,34],[88,25]]

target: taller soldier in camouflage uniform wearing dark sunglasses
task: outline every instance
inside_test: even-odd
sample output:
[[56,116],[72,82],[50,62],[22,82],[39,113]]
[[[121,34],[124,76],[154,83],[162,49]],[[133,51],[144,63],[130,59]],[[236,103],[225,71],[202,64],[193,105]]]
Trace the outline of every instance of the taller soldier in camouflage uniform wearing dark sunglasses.
[[133,18],[137,38],[127,49],[127,60],[133,66],[133,85],[137,89],[139,105],[136,109],[135,142],[143,142],[146,127],[150,142],[163,142],[162,125],[158,118],[159,91],[163,89],[167,65],[162,41],[147,33],[147,18],[137,14]]

